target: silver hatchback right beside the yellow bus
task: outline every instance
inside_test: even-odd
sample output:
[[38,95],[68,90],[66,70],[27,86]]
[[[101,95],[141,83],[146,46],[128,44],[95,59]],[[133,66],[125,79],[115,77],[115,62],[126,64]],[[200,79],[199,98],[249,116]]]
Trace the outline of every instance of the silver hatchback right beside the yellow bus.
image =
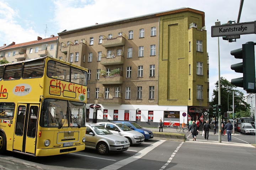
[[105,127],[86,123],[85,147],[96,149],[99,154],[105,155],[110,151],[126,151],[130,146],[127,138],[114,135]]

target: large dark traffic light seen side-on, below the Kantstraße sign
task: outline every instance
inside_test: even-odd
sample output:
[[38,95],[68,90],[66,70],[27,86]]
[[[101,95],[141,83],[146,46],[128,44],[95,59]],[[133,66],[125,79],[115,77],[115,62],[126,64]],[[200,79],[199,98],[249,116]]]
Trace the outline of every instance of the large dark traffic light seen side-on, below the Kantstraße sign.
[[237,87],[243,87],[247,93],[256,93],[255,89],[255,56],[254,42],[246,42],[241,49],[230,52],[235,58],[241,58],[242,63],[231,65],[231,69],[237,73],[243,73],[243,77],[232,79],[231,84]]

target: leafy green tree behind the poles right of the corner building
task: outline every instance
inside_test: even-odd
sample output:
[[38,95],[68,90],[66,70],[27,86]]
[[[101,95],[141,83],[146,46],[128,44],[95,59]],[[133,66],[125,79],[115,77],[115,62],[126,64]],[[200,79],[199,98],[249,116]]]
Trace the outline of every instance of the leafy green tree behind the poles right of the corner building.
[[[215,83],[215,87],[216,89],[213,90],[212,101],[210,102],[211,106],[218,104],[218,81]],[[221,105],[222,105],[222,109],[221,109],[222,114],[226,113],[227,111],[233,111],[231,107],[233,105],[233,96],[232,96],[233,91],[234,91],[234,96],[244,96],[244,94],[241,91],[235,90],[235,88],[236,86],[232,85],[227,79],[223,77],[220,78],[220,95],[221,95],[220,99],[221,99]],[[234,97],[234,104],[236,106],[235,118],[240,118],[240,114],[236,114],[236,113],[240,113],[240,112],[246,113],[248,112],[248,110],[250,110],[250,104],[247,104],[244,101],[244,97]],[[212,113],[212,109],[210,109],[210,112]]]

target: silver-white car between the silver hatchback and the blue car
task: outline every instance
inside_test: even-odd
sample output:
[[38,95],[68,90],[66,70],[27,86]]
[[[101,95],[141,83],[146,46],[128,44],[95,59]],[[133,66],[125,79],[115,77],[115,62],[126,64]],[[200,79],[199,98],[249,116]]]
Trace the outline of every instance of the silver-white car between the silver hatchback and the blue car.
[[129,140],[130,144],[140,144],[145,140],[145,137],[142,133],[132,130],[122,123],[100,122],[98,124],[104,126],[113,134],[126,137]]

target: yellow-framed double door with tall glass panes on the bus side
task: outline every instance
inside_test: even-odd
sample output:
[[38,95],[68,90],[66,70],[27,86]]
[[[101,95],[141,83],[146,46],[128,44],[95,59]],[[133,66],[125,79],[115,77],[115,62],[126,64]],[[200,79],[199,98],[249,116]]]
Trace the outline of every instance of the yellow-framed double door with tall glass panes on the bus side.
[[35,154],[38,109],[38,104],[18,104],[14,151]]

